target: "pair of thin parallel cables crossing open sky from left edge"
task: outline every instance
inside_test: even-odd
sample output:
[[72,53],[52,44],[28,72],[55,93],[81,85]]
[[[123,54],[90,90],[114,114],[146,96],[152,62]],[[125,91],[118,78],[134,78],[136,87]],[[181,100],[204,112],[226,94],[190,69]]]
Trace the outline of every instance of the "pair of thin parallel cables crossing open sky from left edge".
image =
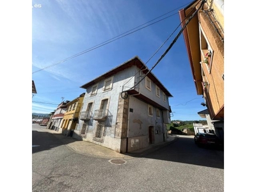
[[[187,3],[187,4],[188,4],[188,3]],[[186,4],[185,4],[185,5],[186,5]],[[183,5],[183,6],[184,6],[184,5]],[[180,6],[180,7],[183,7],[183,6]],[[180,8],[180,7],[179,7],[179,8]],[[172,11],[170,11],[170,12],[173,12],[173,11],[179,9],[179,8],[175,8],[174,10],[172,10]],[[170,13],[170,12],[168,12],[168,13]],[[153,20],[156,20],[156,19],[158,19],[158,18],[160,18],[160,17],[163,17],[164,15],[166,15],[166,14],[168,14],[168,13],[164,13],[163,15],[161,15],[161,16],[159,16],[159,17],[156,17],[155,19],[152,19],[152,20],[150,20],[150,21],[148,21],[148,22],[152,22]],[[177,14],[177,13],[175,13],[175,14],[173,14],[173,15],[176,15],[176,14]],[[168,17],[172,17],[173,15],[169,15]],[[153,24],[156,24],[157,22],[160,22],[161,20],[167,19],[168,17],[164,17],[163,19],[157,20],[156,22],[153,22],[152,24],[148,24],[147,26],[144,26],[143,28],[139,28],[140,26],[143,26],[143,25],[145,25],[145,24],[148,23],[148,22],[145,22],[144,24],[141,24],[140,26],[137,26],[137,27],[136,27],[136,28],[139,28],[139,29],[133,28],[133,29],[130,29],[129,31],[126,31],[126,32],[125,32],[125,33],[127,33],[126,35],[124,35],[125,33],[122,33],[122,34],[120,34],[120,35],[118,35],[118,36],[115,36],[114,38],[110,38],[109,40],[106,40],[105,42],[102,42],[101,44],[95,45],[95,46],[93,46],[93,47],[91,47],[91,48],[89,48],[89,49],[86,49],[85,51],[79,52],[79,53],[77,53],[77,54],[74,54],[73,56],[70,56],[69,58],[66,58],[66,59],[64,59],[64,60],[61,60],[61,61],[59,61],[58,63],[54,63],[54,64],[49,65],[49,66],[44,67],[44,68],[40,68],[39,70],[36,70],[35,72],[32,72],[32,74],[35,74],[36,72],[40,72],[41,70],[44,70],[44,69],[46,69],[46,68],[53,67],[53,66],[55,66],[55,65],[58,65],[58,64],[60,64],[60,63],[65,62],[65,61],[67,61],[67,60],[70,60],[70,59],[72,59],[72,58],[76,58],[77,56],[80,56],[81,54],[84,54],[84,53],[86,53],[86,52],[93,51],[94,49],[97,49],[97,48],[99,48],[99,47],[102,47],[103,45],[110,44],[111,42],[114,42],[114,41],[116,41],[116,40],[118,40],[118,39],[120,39],[120,38],[123,38],[124,36],[131,35],[132,33],[135,33],[136,31],[140,31],[141,29],[147,28],[148,26],[151,26],[151,25],[153,25]],[[134,30],[134,29],[136,29],[136,30],[135,30],[135,31],[132,31],[132,30]],[[131,33],[128,33],[128,32],[130,32],[130,31],[132,31],[132,32],[131,32]]]

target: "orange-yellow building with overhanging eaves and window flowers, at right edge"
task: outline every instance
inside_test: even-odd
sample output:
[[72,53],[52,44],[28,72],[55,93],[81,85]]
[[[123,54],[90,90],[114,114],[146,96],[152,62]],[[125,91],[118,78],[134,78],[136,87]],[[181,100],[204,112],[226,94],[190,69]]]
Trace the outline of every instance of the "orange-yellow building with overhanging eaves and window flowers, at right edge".
[[183,31],[193,81],[197,94],[204,95],[202,105],[207,107],[215,130],[223,134],[224,1],[193,1],[179,11],[182,27],[193,13]]

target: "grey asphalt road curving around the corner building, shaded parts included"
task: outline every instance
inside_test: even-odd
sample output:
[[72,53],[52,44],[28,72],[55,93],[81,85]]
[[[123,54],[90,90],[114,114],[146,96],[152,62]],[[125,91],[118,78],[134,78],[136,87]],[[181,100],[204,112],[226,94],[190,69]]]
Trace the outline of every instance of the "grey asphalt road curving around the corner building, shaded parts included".
[[191,136],[113,164],[77,154],[44,129],[32,130],[33,191],[224,191],[224,152],[198,148]]

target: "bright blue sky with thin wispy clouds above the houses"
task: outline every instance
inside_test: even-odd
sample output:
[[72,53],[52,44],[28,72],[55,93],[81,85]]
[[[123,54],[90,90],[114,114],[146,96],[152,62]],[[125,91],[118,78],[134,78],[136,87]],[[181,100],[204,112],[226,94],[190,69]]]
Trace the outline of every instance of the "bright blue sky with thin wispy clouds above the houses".
[[[146,63],[170,37],[148,61],[152,68],[181,29],[179,10],[192,1],[32,2],[32,79],[37,91],[32,112],[51,113],[62,100],[86,91],[80,86],[134,56]],[[183,35],[152,73],[173,95],[172,120],[205,120],[197,114],[206,108],[200,105],[202,95],[196,94]]]

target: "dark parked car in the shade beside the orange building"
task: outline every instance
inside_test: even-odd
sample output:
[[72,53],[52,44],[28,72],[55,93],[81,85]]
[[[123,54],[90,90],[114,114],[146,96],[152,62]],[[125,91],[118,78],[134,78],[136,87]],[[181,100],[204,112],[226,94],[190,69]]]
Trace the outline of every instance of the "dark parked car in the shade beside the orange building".
[[198,132],[194,137],[196,145],[198,147],[212,146],[212,147],[223,147],[222,141],[216,134]]

